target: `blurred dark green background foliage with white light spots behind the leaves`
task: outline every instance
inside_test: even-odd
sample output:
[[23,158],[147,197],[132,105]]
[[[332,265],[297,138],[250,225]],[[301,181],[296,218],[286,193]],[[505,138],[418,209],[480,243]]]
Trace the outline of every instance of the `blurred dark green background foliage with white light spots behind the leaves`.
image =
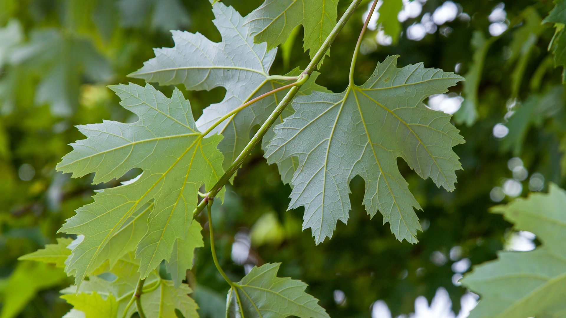
[[[261,3],[223,2],[242,15]],[[348,84],[345,61],[368,2],[320,68],[318,83],[332,91]],[[348,4],[340,2],[339,14]],[[562,70],[547,51],[553,25],[541,24],[552,7],[551,1],[414,0],[403,1],[399,13],[381,10],[381,19],[373,20],[381,24],[370,24],[363,41],[357,83],[392,54],[401,55],[400,65],[424,62],[467,79],[425,101],[433,109],[456,111],[466,139],[455,148],[464,167],[456,191],[439,190],[399,160],[423,207],[420,242],[398,242],[379,215],[370,220],[361,205],[363,180],[356,178],[348,226],[338,224],[332,240],[315,246],[310,231],[301,231],[302,210],[286,211],[290,188],[256,149],[228,187],[225,203],[213,207],[217,252],[229,276],[238,281],[253,265],[282,262],[280,276],[307,282],[308,293],[332,317],[373,312],[379,318],[384,304],[393,316],[414,312],[415,299],[430,302],[439,287],[458,313],[466,294],[458,279],[471,264],[494,259],[501,249],[537,244],[534,235],[513,233],[488,208],[546,191],[549,182],[566,186]],[[152,48],[173,45],[169,29],[220,41],[210,8],[207,0],[0,0],[0,318],[61,317],[68,311],[58,298],[58,290],[71,283],[62,269],[16,259],[55,242],[57,229],[91,201],[93,190],[119,181],[92,185],[88,178],[55,173],[54,166],[70,151],[68,143],[82,139],[74,125],[135,121],[106,85],[143,84],[127,74],[153,57]],[[273,74],[307,65],[301,39],[297,28],[278,51]],[[198,118],[225,92],[184,93]],[[124,179],[135,175],[131,171]],[[197,250],[187,281],[201,316],[224,316],[228,286],[208,245]]]

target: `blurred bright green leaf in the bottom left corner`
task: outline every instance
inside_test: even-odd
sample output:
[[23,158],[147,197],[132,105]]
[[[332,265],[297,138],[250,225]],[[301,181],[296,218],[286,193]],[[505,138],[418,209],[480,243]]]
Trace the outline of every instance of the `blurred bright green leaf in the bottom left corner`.
[[13,318],[38,291],[57,286],[67,278],[53,265],[24,261],[18,263],[5,285],[2,285],[0,318]]

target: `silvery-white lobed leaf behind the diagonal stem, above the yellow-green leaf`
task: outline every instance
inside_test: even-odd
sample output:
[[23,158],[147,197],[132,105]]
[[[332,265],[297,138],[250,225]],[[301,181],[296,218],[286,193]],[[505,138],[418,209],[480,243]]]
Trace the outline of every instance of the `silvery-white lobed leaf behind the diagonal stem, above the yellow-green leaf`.
[[[215,87],[226,88],[224,100],[204,109],[196,121],[197,127],[204,131],[231,110],[272,89],[289,84],[289,80],[273,79],[268,71],[275,59],[276,49],[267,50],[265,44],[254,44],[248,35],[249,28],[244,19],[232,7],[222,3],[213,5],[216,19],[213,23],[220,31],[222,41],[212,42],[200,33],[173,31],[173,48],[155,49],[156,57],[144,63],[140,70],[130,74],[148,82],[161,85],[184,84],[186,89],[201,90]],[[190,55],[190,58],[187,56]],[[295,69],[288,76],[299,75]],[[298,94],[309,94],[312,90],[326,91],[316,85],[318,73],[303,85]],[[246,85],[242,85],[245,79]],[[218,149],[224,154],[224,169],[227,169],[250,141],[254,126],[262,124],[275,109],[287,91],[255,102],[218,125],[211,134],[222,134]],[[289,108],[281,119],[292,113]],[[269,140],[268,132],[264,141]],[[281,170],[293,167],[293,161],[279,164]],[[293,170],[294,171],[294,170]],[[291,173],[292,174],[292,173]],[[282,175],[284,175],[282,173]]]

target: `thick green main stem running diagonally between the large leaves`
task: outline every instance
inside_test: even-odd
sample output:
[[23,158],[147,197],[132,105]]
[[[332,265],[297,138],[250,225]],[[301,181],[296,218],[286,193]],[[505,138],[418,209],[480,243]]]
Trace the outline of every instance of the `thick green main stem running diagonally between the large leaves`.
[[[308,66],[305,68],[305,71],[302,72],[301,76],[299,76],[297,81],[294,83],[295,85],[293,87],[291,87],[291,89],[289,89],[289,92],[287,92],[285,97],[281,100],[281,102],[279,102],[279,104],[277,105],[275,110],[273,110],[273,113],[271,113],[271,115],[269,115],[269,118],[267,119],[267,121],[265,121],[263,123],[263,125],[261,125],[258,132],[256,132],[254,137],[252,137],[250,142],[246,145],[246,147],[243,149],[243,151],[238,155],[236,160],[234,160],[234,162],[230,165],[228,170],[226,170],[226,172],[222,175],[222,177],[220,177],[220,179],[218,179],[216,184],[214,186],[212,186],[212,188],[208,192],[207,196],[205,196],[204,199],[202,201],[200,201],[200,203],[196,206],[196,208],[193,212],[193,216],[196,216],[197,214],[199,214],[204,209],[204,207],[208,204],[208,201],[211,200],[213,197],[215,197],[218,194],[218,192],[220,192],[222,187],[224,187],[226,182],[228,182],[230,180],[230,178],[235,173],[235,171],[238,170],[239,166],[242,165],[242,162],[251,153],[252,149],[254,149],[255,146],[260,143],[261,138],[269,130],[269,127],[271,127],[271,125],[281,115],[282,111],[287,107],[287,105],[289,105],[291,100],[293,100],[293,98],[295,97],[295,94],[297,94],[299,92],[299,88],[301,88],[301,86],[303,84],[305,84],[305,82],[308,80],[308,78],[310,77],[310,75],[315,70],[316,66],[318,65],[318,63],[324,57],[324,54],[326,53],[326,51],[332,45],[332,42],[335,40],[336,36],[338,35],[338,33],[340,33],[341,29],[344,27],[346,22],[348,22],[348,19],[350,19],[350,16],[354,13],[355,9],[358,7],[360,2],[362,2],[362,0],[354,0],[350,3],[350,6],[348,7],[348,9],[346,9],[346,12],[344,12],[344,15],[342,15],[340,20],[338,20],[338,23],[332,29],[332,31],[330,32],[328,37],[324,40],[322,46],[320,46],[320,49],[318,51],[316,51],[314,57],[311,59],[311,62],[308,63]],[[238,294],[238,293],[236,293],[236,294]]]

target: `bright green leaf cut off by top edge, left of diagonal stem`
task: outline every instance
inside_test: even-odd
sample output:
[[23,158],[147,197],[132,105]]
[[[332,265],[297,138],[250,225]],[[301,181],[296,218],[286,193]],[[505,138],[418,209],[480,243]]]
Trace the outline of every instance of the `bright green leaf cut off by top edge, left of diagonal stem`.
[[256,43],[267,42],[271,49],[284,43],[302,24],[303,48],[312,58],[336,24],[337,5],[338,0],[265,0],[246,16],[246,25]]

